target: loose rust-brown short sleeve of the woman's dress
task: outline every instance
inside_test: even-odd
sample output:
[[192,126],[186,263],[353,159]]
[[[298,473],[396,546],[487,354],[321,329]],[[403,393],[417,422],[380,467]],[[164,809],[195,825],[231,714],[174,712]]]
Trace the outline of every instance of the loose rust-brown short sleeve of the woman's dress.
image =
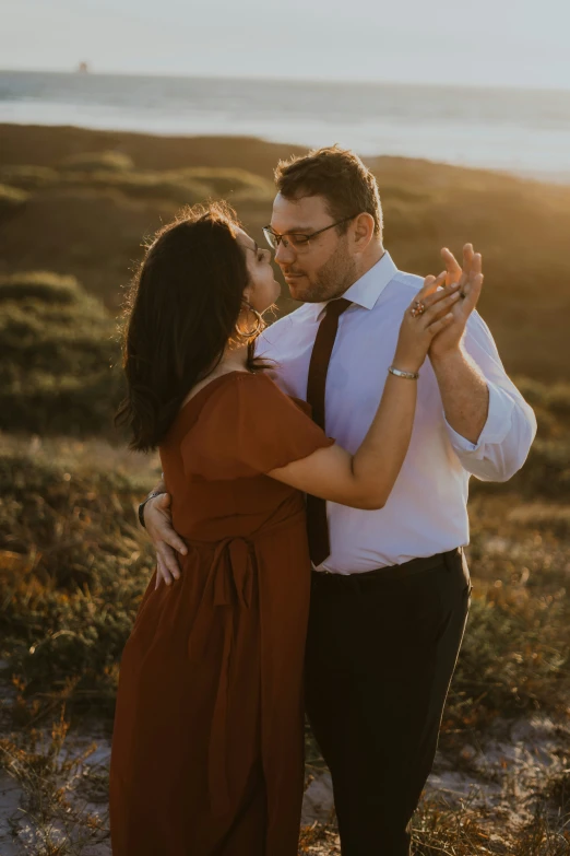
[[180,450],[185,476],[216,481],[260,476],[333,444],[268,375],[236,372],[206,400]]

